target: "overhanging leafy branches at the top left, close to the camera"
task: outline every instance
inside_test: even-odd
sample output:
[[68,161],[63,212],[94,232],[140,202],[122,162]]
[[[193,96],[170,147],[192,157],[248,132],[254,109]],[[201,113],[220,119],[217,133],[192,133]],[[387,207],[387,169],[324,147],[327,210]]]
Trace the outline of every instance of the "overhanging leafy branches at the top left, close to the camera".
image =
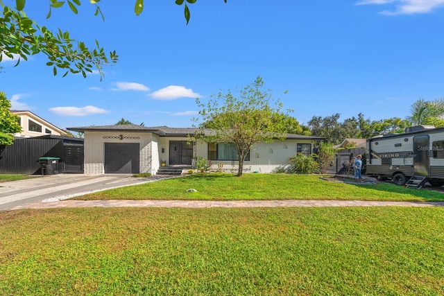
[[[95,15],[102,15],[98,6],[100,0],[90,0],[96,6]],[[8,58],[14,58],[19,55],[20,59],[27,60],[28,55],[44,53],[48,56],[49,62],[46,65],[53,67],[54,76],[58,69],[65,71],[63,76],[68,73],[82,73],[83,77],[87,72],[91,73],[93,69],[99,70],[103,78],[102,66],[112,62],[117,62],[118,55],[111,51],[108,55],[99,42],[96,41],[96,48],[90,49],[84,42],[71,39],[69,32],[62,31],[60,28],[53,33],[45,26],[37,24],[33,19],[26,16],[24,11],[25,0],[15,0],[15,6],[6,1],[0,0],[0,61],[2,53]],[[226,3],[227,0],[224,0]],[[51,17],[52,8],[61,8],[68,3],[69,8],[74,14],[78,13],[80,0],[58,1],[49,0],[49,13],[46,18]],[[190,18],[188,4],[196,3],[196,0],[176,0],[176,4],[184,6],[185,19],[187,24]],[[135,1],[135,15],[140,15],[144,10],[144,0]],[[103,18],[103,15],[102,15]]]

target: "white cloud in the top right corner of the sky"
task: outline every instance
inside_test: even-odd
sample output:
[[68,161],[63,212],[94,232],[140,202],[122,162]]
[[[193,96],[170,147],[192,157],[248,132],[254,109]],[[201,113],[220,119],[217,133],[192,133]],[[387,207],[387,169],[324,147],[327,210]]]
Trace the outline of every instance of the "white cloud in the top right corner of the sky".
[[394,3],[394,10],[383,10],[382,15],[413,15],[416,13],[428,13],[437,8],[444,7],[444,0],[363,0],[357,5],[384,5]]

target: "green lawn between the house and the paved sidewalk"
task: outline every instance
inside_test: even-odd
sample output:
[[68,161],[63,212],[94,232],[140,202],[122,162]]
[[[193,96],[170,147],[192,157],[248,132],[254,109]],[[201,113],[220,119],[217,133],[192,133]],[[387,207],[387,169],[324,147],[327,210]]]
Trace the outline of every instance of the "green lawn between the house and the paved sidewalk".
[[[187,192],[196,189],[197,192]],[[195,174],[73,198],[75,200],[388,200],[444,201],[444,194],[378,183],[345,184],[320,175]]]

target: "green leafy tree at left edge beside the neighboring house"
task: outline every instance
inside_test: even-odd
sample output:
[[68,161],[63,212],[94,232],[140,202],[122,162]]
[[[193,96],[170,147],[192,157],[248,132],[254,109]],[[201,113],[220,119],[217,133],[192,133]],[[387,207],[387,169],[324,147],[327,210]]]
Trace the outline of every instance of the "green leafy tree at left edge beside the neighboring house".
[[12,134],[21,132],[20,117],[10,112],[11,103],[4,92],[0,92],[0,146],[14,141]]

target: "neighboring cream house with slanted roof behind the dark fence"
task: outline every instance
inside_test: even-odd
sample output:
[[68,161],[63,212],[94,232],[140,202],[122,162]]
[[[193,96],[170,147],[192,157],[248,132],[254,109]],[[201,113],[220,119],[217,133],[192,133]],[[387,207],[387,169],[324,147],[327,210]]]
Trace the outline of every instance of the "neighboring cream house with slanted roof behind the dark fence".
[[19,123],[22,126],[22,132],[14,134],[14,137],[30,138],[41,137],[46,134],[53,134],[54,136],[65,136],[67,134],[56,125],[28,110],[10,110],[10,112],[19,116]]

